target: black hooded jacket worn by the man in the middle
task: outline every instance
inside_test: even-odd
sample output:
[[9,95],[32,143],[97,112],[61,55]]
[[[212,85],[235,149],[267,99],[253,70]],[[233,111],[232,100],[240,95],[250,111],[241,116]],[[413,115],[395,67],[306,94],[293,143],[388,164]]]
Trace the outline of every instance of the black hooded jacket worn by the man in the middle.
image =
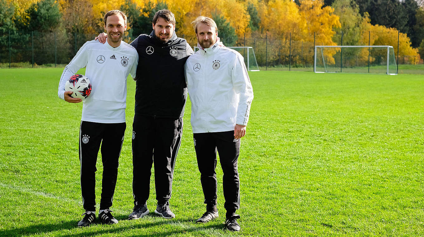
[[185,39],[173,33],[166,42],[154,31],[141,34],[131,45],[139,61],[136,74],[135,114],[157,118],[181,118],[187,99],[184,64],[193,54]]

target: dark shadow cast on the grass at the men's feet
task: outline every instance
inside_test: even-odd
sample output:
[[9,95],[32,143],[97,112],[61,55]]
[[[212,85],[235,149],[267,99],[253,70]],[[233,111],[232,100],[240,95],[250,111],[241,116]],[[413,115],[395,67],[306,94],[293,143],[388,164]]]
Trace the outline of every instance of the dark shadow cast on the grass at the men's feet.
[[[115,218],[117,218],[117,220],[119,220],[119,222],[124,222],[124,221],[130,221],[127,220],[128,216],[126,215],[117,215],[115,216]],[[139,221],[138,223],[136,221]],[[131,226],[117,226],[116,228],[112,228],[111,226],[106,226],[105,229],[101,229],[101,230],[93,230],[90,227],[86,227],[86,228],[80,228],[77,227],[77,223],[78,220],[72,220],[72,221],[63,221],[61,223],[53,223],[53,224],[37,224],[37,225],[32,225],[32,226],[25,226],[25,227],[21,227],[21,228],[17,228],[17,229],[10,229],[10,230],[5,230],[3,231],[3,233],[1,233],[1,236],[5,236],[5,237],[20,237],[20,236],[24,236],[24,235],[33,235],[33,234],[47,234],[49,232],[54,232],[54,231],[61,231],[61,230],[70,230],[72,232],[74,232],[73,234],[65,234],[65,233],[58,233],[58,235],[60,236],[67,236],[67,237],[79,237],[79,236],[96,236],[96,235],[100,235],[100,234],[107,234],[107,233],[118,233],[118,232],[123,232],[123,231],[131,231],[133,229],[149,229],[149,228],[153,228],[155,226],[162,226],[162,225],[175,225],[175,226],[179,226],[178,230],[172,230],[172,231],[158,231],[158,232],[151,232],[149,231],[148,233],[146,233],[145,235],[140,235],[140,234],[134,234],[134,235],[127,235],[126,236],[169,236],[172,234],[182,234],[182,233],[187,233],[187,232],[193,232],[193,231],[202,231],[202,230],[211,230],[211,229],[215,229],[215,230],[222,230],[224,225],[223,223],[217,222],[216,224],[213,225],[208,225],[208,226],[204,226],[204,225],[198,225],[195,224],[194,221],[192,219],[172,219],[172,220],[167,220],[167,219],[161,219],[158,221],[154,221],[151,222],[151,220],[148,220],[147,223],[144,223],[145,221],[143,221],[143,219],[139,219],[139,220],[131,220],[132,225]],[[181,223],[184,223],[184,225],[190,225],[193,224],[193,226],[187,226],[187,227],[183,227],[180,226]],[[100,223],[100,220],[96,219],[95,223],[91,225],[92,226],[100,226],[103,225],[102,223]],[[119,225],[119,223],[117,224]]]

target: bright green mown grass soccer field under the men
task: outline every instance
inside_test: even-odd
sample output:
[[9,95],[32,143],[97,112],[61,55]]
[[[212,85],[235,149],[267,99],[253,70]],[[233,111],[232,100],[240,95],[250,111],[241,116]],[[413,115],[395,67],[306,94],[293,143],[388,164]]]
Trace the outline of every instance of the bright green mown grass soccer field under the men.
[[[0,70],[0,236],[424,236],[424,75],[252,72],[242,139],[240,233],[204,225],[190,101],[170,206],[176,218],[126,220],[133,207],[128,80],[126,137],[113,226],[81,229],[81,104],[57,97],[61,68]],[[97,202],[101,159],[98,159]],[[153,171],[153,170],[152,170]],[[148,208],[156,207],[154,183]]]

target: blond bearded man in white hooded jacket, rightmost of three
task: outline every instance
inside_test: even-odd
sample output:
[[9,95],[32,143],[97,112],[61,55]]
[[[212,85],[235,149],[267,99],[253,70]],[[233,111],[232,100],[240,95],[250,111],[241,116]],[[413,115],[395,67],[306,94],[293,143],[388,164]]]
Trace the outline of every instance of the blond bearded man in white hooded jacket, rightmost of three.
[[218,217],[217,150],[223,170],[226,209],[225,226],[240,231],[236,210],[240,207],[237,159],[240,138],[246,134],[253,89],[244,59],[235,50],[219,46],[218,28],[209,17],[192,22],[198,50],[185,64],[186,82],[192,104],[191,125],[206,212],[197,222]]

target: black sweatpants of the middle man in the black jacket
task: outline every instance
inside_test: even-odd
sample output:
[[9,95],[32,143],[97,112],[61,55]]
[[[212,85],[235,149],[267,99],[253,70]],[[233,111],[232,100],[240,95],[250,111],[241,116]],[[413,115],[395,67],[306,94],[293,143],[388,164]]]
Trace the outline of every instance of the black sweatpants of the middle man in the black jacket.
[[134,116],[133,195],[134,205],[145,204],[150,194],[150,176],[154,163],[158,204],[169,201],[175,160],[181,145],[183,119]]

